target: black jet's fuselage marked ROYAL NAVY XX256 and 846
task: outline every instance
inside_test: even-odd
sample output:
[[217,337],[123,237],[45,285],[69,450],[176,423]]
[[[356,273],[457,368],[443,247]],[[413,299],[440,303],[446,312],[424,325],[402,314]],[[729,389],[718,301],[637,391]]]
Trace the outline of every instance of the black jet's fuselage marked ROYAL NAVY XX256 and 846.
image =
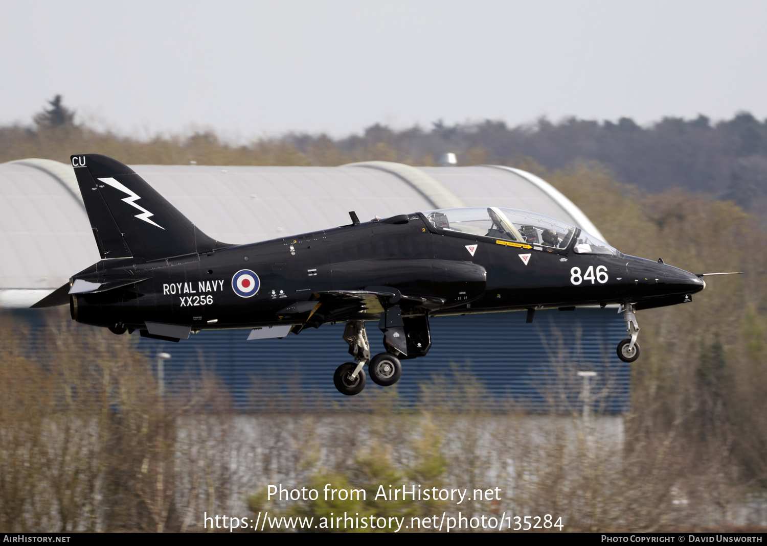
[[[74,319],[91,325],[143,329],[145,321],[152,321],[202,330],[301,325],[311,310],[291,305],[369,286],[422,296],[421,302],[400,303],[403,316],[628,302],[641,309],[643,303],[646,308],[683,302],[703,289],[698,276],[663,263],[621,253],[575,253],[574,240],[564,249],[552,249],[445,234],[423,214],[402,215],[164,260],[101,260],[73,280],[146,280],[72,294],[71,310]],[[250,280],[243,282],[249,286],[238,293],[234,277],[243,270],[255,278],[245,273]],[[346,307],[340,300],[326,302],[314,319],[370,320],[380,314],[375,306]]]

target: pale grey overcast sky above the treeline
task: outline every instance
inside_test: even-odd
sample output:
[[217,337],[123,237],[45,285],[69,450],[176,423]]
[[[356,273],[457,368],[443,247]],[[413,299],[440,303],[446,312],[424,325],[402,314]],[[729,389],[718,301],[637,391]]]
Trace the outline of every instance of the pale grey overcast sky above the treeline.
[[4,2],[0,123],[132,136],[767,117],[767,2]]

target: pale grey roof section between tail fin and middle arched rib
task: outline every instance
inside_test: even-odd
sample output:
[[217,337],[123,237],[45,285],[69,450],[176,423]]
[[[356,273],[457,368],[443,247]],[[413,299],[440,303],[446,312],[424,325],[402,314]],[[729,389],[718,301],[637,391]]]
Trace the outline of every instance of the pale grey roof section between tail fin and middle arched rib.
[[428,210],[429,201],[388,172],[355,167],[132,165],[206,234],[243,244]]

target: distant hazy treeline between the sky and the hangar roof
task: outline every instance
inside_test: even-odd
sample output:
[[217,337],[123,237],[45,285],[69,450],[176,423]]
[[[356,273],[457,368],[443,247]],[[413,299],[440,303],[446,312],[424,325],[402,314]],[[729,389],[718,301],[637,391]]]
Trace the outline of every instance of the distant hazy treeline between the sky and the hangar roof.
[[342,165],[378,159],[434,165],[444,152],[456,152],[459,165],[511,165],[528,158],[551,169],[599,162],[618,181],[643,191],[685,188],[755,212],[767,204],[767,120],[749,113],[718,123],[706,116],[667,117],[650,126],[630,118],[600,123],[574,117],[514,127],[491,120],[401,130],[374,125],[339,139],[288,133],[247,145],[229,145],[214,132],[142,141],[94,131],[76,119],[57,96],[34,117],[34,126],[0,128],[0,162],[31,156],[67,161],[72,153],[97,152],[131,164]]

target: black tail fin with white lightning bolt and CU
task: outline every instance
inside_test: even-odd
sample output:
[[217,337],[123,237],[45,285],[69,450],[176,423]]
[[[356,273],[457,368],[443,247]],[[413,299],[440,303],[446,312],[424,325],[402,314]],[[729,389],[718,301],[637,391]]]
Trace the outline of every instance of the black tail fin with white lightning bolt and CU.
[[157,260],[229,246],[202,233],[127,165],[98,154],[71,162],[102,258]]

